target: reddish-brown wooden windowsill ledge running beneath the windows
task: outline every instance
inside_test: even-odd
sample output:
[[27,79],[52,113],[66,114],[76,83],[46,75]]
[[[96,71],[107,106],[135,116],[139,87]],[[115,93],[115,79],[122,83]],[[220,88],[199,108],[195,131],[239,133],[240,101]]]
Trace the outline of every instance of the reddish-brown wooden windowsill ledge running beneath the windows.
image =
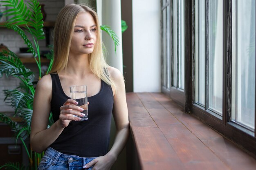
[[126,98],[139,169],[256,169],[254,157],[162,93],[126,93]]

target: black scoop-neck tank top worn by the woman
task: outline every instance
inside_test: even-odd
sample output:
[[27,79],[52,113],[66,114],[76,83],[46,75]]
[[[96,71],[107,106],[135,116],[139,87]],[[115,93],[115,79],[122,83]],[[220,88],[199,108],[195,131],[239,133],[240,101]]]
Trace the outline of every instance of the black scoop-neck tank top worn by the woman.
[[[58,74],[52,77],[51,111],[54,122],[60,115],[60,107],[69,99],[65,95]],[[50,145],[53,149],[67,155],[79,157],[99,157],[108,152],[110,124],[114,97],[112,88],[101,80],[101,90],[97,95],[88,97],[89,119],[71,121],[61,135]]]

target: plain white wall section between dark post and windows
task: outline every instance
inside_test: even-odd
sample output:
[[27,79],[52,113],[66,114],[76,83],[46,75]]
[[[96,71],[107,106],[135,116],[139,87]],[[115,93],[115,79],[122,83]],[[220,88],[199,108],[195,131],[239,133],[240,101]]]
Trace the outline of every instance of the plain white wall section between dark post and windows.
[[161,91],[161,7],[159,0],[132,1],[134,92]]

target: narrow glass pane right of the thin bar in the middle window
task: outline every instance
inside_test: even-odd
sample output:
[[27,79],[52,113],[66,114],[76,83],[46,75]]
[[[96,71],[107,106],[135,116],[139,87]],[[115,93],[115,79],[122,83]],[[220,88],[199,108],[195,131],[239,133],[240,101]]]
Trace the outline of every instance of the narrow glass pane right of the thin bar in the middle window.
[[223,1],[209,0],[209,109],[222,115]]

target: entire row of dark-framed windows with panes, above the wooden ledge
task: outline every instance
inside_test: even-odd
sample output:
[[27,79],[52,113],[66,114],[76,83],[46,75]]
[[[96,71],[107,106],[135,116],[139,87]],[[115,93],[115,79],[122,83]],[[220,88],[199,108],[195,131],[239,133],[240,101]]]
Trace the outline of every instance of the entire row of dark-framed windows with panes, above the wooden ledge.
[[255,0],[162,0],[163,93],[254,154],[255,11]]

